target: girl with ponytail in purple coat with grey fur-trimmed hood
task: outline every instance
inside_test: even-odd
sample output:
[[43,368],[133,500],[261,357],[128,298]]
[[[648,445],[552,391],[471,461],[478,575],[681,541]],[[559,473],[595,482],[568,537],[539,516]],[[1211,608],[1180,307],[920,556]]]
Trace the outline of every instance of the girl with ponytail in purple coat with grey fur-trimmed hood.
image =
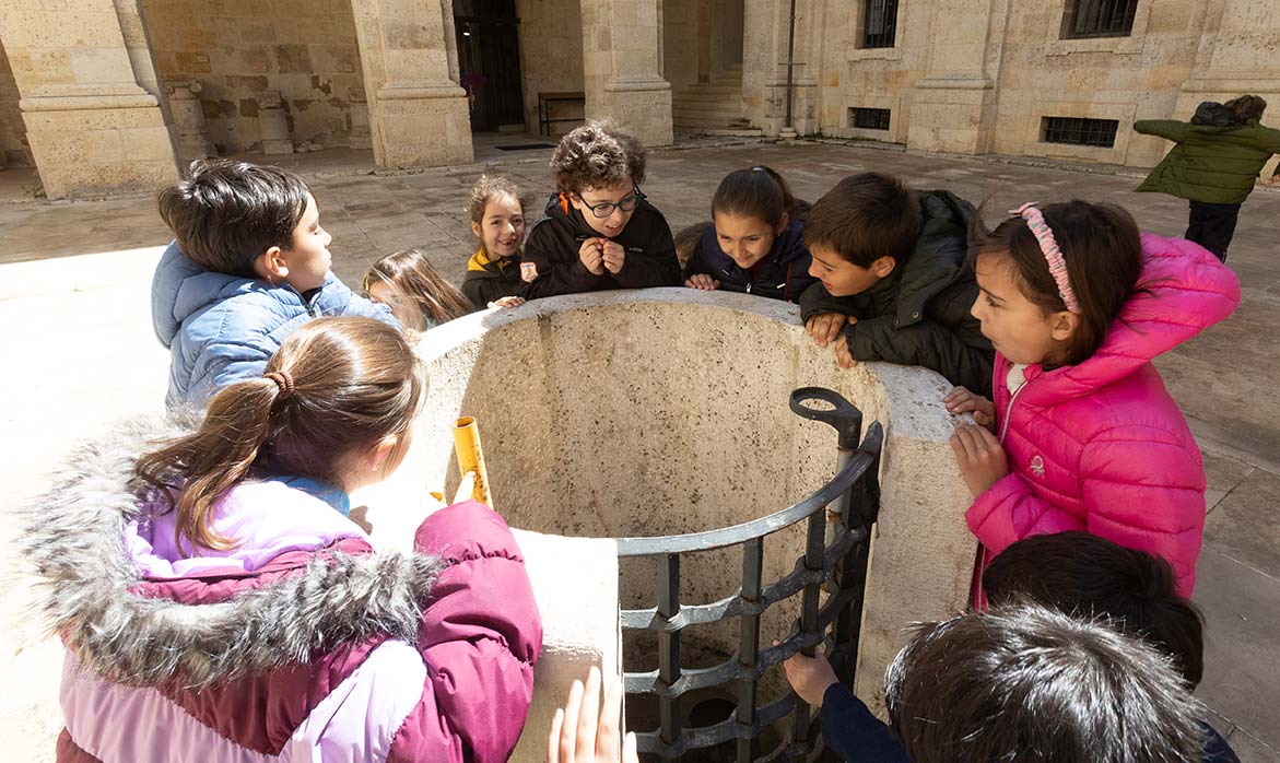
[[398,330],[321,319],[196,431],[76,454],[24,538],[67,645],[59,762],[507,759],[541,648],[511,531],[468,501],[374,552],[346,516],[425,393]]

